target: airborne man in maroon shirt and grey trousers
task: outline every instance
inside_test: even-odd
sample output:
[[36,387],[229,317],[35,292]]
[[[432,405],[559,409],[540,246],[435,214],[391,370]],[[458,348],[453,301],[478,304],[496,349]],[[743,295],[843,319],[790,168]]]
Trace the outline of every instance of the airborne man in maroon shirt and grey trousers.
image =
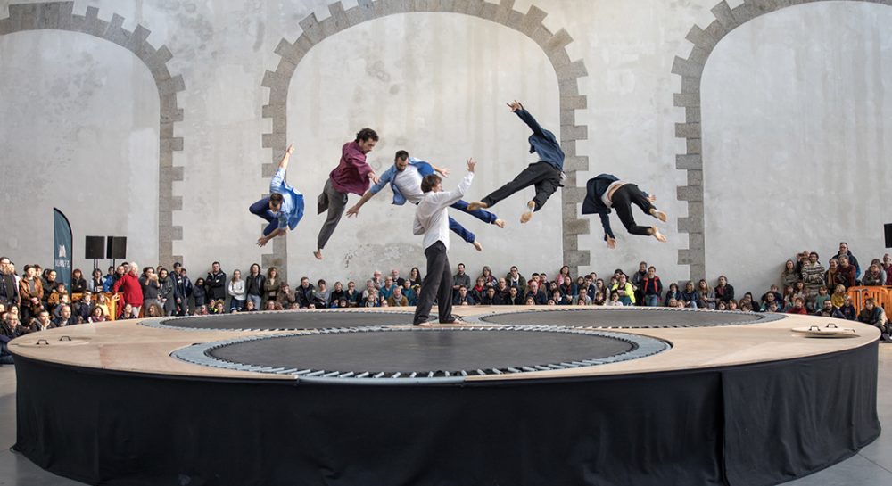
[[341,162],[326,181],[326,188],[318,199],[318,214],[328,210],[326,222],[319,229],[316,251],[313,256],[322,259],[322,249],[326,247],[328,238],[335,233],[335,227],[347,206],[347,194],[361,196],[368,190],[368,181],[378,183],[378,177],[371,166],[366,163],[366,154],[375,148],[378,134],[371,128],[363,128],[356,134],[356,140],[343,145]]

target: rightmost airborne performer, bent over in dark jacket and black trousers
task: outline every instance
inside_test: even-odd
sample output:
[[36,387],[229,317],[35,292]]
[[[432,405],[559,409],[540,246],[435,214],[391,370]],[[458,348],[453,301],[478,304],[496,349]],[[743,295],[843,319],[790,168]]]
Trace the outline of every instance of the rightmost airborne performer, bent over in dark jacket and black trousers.
[[638,185],[619,180],[611,174],[600,174],[592,177],[585,185],[585,200],[582,201],[582,214],[597,214],[601,218],[601,226],[604,227],[604,241],[608,248],[616,247],[616,237],[610,229],[610,210],[616,210],[625,229],[632,235],[653,236],[658,241],[666,241],[666,237],[660,233],[657,227],[642,227],[635,223],[632,216],[632,204],[638,206],[648,216],[653,216],[665,222],[666,213],[657,210],[654,202],[657,196],[648,195],[641,191]]

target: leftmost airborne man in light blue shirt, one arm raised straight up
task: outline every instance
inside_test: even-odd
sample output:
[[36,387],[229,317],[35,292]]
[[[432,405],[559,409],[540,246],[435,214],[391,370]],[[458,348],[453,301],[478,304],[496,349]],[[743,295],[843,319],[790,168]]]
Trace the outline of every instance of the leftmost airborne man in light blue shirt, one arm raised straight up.
[[294,144],[288,145],[279,161],[276,175],[269,181],[269,195],[254,202],[248,209],[269,223],[263,228],[263,235],[257,239],[258,246],[266,245],[276,236],[285,235],[289,229],[297,227],[303,218],[303,194],[285,182],[285,172],[293,152]]

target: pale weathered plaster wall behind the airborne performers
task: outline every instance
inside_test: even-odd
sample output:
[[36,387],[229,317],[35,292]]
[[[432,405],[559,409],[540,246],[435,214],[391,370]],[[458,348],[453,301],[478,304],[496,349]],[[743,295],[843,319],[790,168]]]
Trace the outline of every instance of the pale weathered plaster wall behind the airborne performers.
[[[381,194],[379,200],[369,203],[359,219],[344,221],[326,251],[324,265],[312,259],[310,249],[322,219],[312,210],[313,202],[326,172],[337,162],[341,144],[362,126],[372,126],[383,137],[379,150],[371,154],[374,164],[384,167],[390,163],[392,152],[405,147],[413,154],[448,165],[457,175],[464,159],[473,155],[481,161],[481,167],[472,196],[483,195],[513,177],[527,161],[525,129],[502,104],[512,98],[522,99],[544,125],[556,127],[554,131],[560,132],[562,138],[573,141],[573,164],[578,172],[570,187],[549,202],[543,218],[535,219],[531,227],[522,228],[516,223],[519,205],[532,194],[530,191],[497,207],[511,225],[506,230],[463,218],[478,233],[486,250],[476,254],[467,244],[456,242],[452,259],[465,260],[472,269],[489,263],[496,271],[505,271],[508,265],[516,263],[526,274],[555,272],[561,265],[561,255],[575,246],[571,250],[578,248],[574,259],[580,259],[581,271],[606,273],[617,267],[631,271],[640,259],[647,259],[670,279],[687,278],[690,268],[695,276],[703,273],[714,279],[718,273],[725,273],[732,282],[749,287],[763,285],[772,278],[778,271],[778,260],[803,244],[828,253],[839,239],[846,238],[859,257],[878,254],[882,249],[877,226],[880,220],[892,220],[888,211],[884,213],[882,206],[874,204],[871,207],[877,209],[871,218],[851,218],[846,225],[839,226],[826,223],[824,232],[813,231],[809,228],[817,225],[808,219],[816,212],[813,208],[783,203],[781,215],[771,227],[780,237],[769,240],[754,235],[753,226],[747,225],[765,227],[758,226],[764,221],[764,216],[758,214],[762,202],[751,193],[727,187],[732,185],[728,181],[740,177],[725,162],[743,159],[753,164],[752,172],[758,172],[764,169],[758,164],[771,160],[766,153],[773,157],[782,152],[777,148],[782,146],[788,155],[780,165],[784,170],[795,170],[797,164],[811,165],[815,156],[824,152],[847,154],[849,161],[866,164],[858,167],[875,174],[876,182],[869,183],[875,184],[871,189],[888,185],[888,174],[880,170],[886,155],[882,140],[886,129],[883,119],[887,117],[883,115],[888,113],[888,106],[873,101],[883,99],[879,80],[885,77],[880,66],[889,65],[892,52],[882,29],[888,25],[882,20],[888,21],[892,9],[884,4],[815,2],[780,8],[790,2],[744,4],[731,0],[716,6],[715,0],[645,0],[630,6],[620,0],[516,0],[502,4],[412,0],[404,4],[428,10],[455,7],[468,11],[478,8],[499,15],[504,12],[504,23],[462,13],[400,13],[365,21],[327,37],[310,48],[286,86],[288,125],[280,135],[273,122],[265,118],[274,115],[276,107],[270,104],[271,90],[261,85],[268,84],[266,71],[276,70],[282,59],[277,53],[281,52],[282,39],[293,43],[303,29],[312,28],[306,22],[311,14],[324,21],[332,12],[341,12],[338,8],[342,6],[348,10],[357,6],[356,0],[347,0],[343,5],[325,0],[103,0],[78,1],[71,7],[75,16],[89,19],[93,12],[99,21],[133,33],[123,39],[118,38],[120,32],[103,35],[117,39],[120,45],[144,42],[157,50],[152,55],[134,55],[101,38],[71,32],[32,30],[6,34],[13,24],[27,27],[39,21],[37,14],[34,20],[30,13],[13,12],[18,4],[0,2],[0,19],[7,9],[18,16],[0,21],[0,70],[4,72],[0,78],[0,104],[4,113],[21,106],[27,111],[23,119],[28,123],[6,116],[0,119],[0,136],[12,139],[4,147],[19,147],[0,153],[0,164],[4,168],[15,166],[15,172],[31,177],[45,172],[41,169],[45,166],[39,165],[18,169],[21,162],[17,160],[21,157],[12,155],[23,150],[37,152],[38,142],[58,136],[58,128],[41,119],[64,121],[72,133],[101,127],[96,138],[103,142],[68,144],[67,158],[59,156],[57,160],[72,174],[80,174],[87,170],[80,164],[91,160],[98,163],[128,159],[127,169],[120,168],[128,177],[145,178],[154,184],[147,186],[155,194],[154,201],[144,204],[140,200],[138,207],[111,207],[111,219],[116,222],[107,234],[128,235],[128,256],[140,262],[182,257],[195,275],[206,271],[212,259],[222,261],[227,270],[244,269],[253,261],[261,261],[268,251],[253,246],[260,221],[247,214],[246,207],[265,192],[268,179],[263,177],[264,164],[277,157],[277,149],[265,147],[286,138],[298,144],[294,164],[295,168],[301,167],[300,171],[293,170],[289,179],[308,195],[310,202],[307,217],[287,243],[289,273],[362,278],[372,268],[384,269],[398,260],[406,262],[404,270],[419,264],[422,255],[417,239],[408,235],[410,210],[390,207],[389,194]],[[391,7],[394,4],[399,3],[387,3]],[[359,5],[375,8],[380,3],[362,0]],[[98,13],[90,10],[96,8]],[[757,16],[756,13],[763,12],[758,9],[765,9],[766,13]],[[742,26],[729,23],[728,15]],[[758,18],[749,21],[753,17]],[[535,27],[524,23],[528,21],[541,22],[548,33],[555,33],[554,40],[537,37],[545,32],[543,29],[524,34],[524,25]],[[716,22],[723,29],[721,35],[706,27]],[[511,25],[516,29],[508,27]],[[698,29],[692,29],[695,26],[703,26],[705,33],[699,35]],[[791,29],[798,29],[796,35],[789,34]],[[827,40],[830,33],[840,32],[839,29],[843,32],[838,34],[841,41]],[[59,43],[53,40],[56,37],[78,40]],[[714,46],[714,52],[704,55],[702,43],[713,39],[716,44],[716,38],[721,41]],[[21,45],[22,39],[28,39],[29,45]],[[45,48],[54,42],[61,44],[58,49]],[[553,50],[555,43],[558,51]],[[37,47],[40,56],[29,54],[35,52],[33,45],[43,46]],[[139,53],[140,49],[131,50]],[[76,62],[84,52],[99,67],[89,68],[87,63]],[[556,52],[563,52],[568,59],[558,60],[561,67],[557,69]],[[811,59],[817,61],[804,62],[806,54],[814,55]],[[703,70],[707,57],[707,69]],[[25,60],[27,72],[6,75],[10,70],[19,70],[16,66],[21,67]],[[575,60],[581,62],[574,63]],[[840,64],[833,65],[833,76],[825,76],[828,63],[833,60]],[[853,61],[841,63],[844,60]],[[151,74],[146,74],[146,68]],[[161,68],[169,72],[160,74]],[[814,74],[809,74],[809,70]],[[41,103],[22,103],[21,96],[5,95],[33,92],[35,95],[25,95],[24,99],[37,101],[42,95],[35,90],[40,85],[35,80],[60,78],[56,82],[69,86],[69,99],[90,99],[87,91],[81,93],[79,90],[84,88],[72,80],[78,72],[94,72],[96,76],[107,73],[103,86],[117,87],[103,91],[114,94],[113,97],[99,98],[113,106],[54,114],[43,111]],[[126,81],[117,82],[114,73]],[[564,80],[568,74],[578,77],[578,86],[577,80],[573,80],[578,96],[565,99],[560,94],[562,89],[569,89]],[[747,83],[756,75],[762,79],[761,84]],[[822,80],[821,86],[814,85],[815,78]],[[148,100],[152,98],[153,80],[156,97]],[[50,87],[45,95],[58,93],[53,84],[47,82],[47,86]],[[780,99],[774,91],[761,86],[783,87],[779,92],[785,95]],[[863,93],[855,96],[854,105],[847,102],[851,99],[847,96],[853,92]],[[824,103],[828,93],[835,95],[830,96],[830,103]],[[756,103],[760,100],[763,103]],[[120,106],[121,103],[127,106]],[[789,127],[805,125],[789,121],[789,111],[803,106],[808,107],[803,119],[818,119],[811,128],[803,127],[786,136],[779,136],[780,130],[772,129],[785,123]],[[129,114],[110,118],[119,117],[121,111]],[[744,119],[755,121],[743,123]],[[155,136],[146,135],[146,130],[155,130]],[[133,147],[136,142],[125,141],[134,138],[144,144],[144,136],[155,142],[145,142],[145,147],[140,145],[138,151],[121,148]],[[816,136],[838,152],[814,146],[810,141]],[[276,144],[270,144],[271,141]],[[791,149],[794,146],[797,150]],[[803,146],[814,148],[810,152],[800,150]],[[91,156],[99,148],[104,155]],[[138,153],[125,157],[128,151]],[[47,160],[53,153],[48,152]],[[822,163],[832,162],[825,158]],[[128,172],[137,167],[150,167],[153,174]],[[834,171],[829,165],[823,167],[814,172],[810,184],[820,182],[826,186]],[[576,187],[600,172],[631,179],[657,194],[658,205],[670,214],[671,224],[665,226],[670,243],[627,235],[615,220],[615,227],[620,229],[620,246],[608,251],[597,219],[588,226],[585,220],[574,221],[578,209],[572,202],[581,196]],[[4,176],[2,193],[4,201],[12,204],[12,212],[18,214],[25,209],[20,201],[29,190],[14,177],[22,176]],[[114,178],[120,177],[124,176]],[[774,192],[787,187],[780,177],[750,178]],[[111,185],[109,181],[103,183]],[[448,184],[454,183],[452,180]],[[841,194],[860,194],[860,187],[842,185]],[[698,190],[706,194],[700,201],[691,197]],[[716,193],[727,193],[727,197],[717,202],[713,195]],[[44,207],[40,210],[47,214],[47,221],[52,205],[68,204],[62,198],[52,199],[41,203]],[[351,199],[355,200],[355,196]],[[562,207],[562,201],[570,201],[569,209]],[[747,221],[739,226],[747,229],[743,235],[729,233],[729,229],[715,223],[725,219],[723,215],[733,208],[738,209],[735,214],[739,219]],[[76,243],[82,244],[83,235],[91,233],[86,229],[90,219],[74,214],[79,210],[66,212],[72,218]],[[840,215],[858,212],[850,205],[830,204],[827,210],[830,221],[840,221]],[[140,211],[145,211],[145,215]],[[792,216],[795,214],[802,215],[801,225],[797,223],[800,218]],[[644,217],[641,220],[648,221]],[[8,224],[6,221],[4,225]],[[34,231],[50,231],[48,224],[45,230],[37,228],[43,225],[40,221],[29,224]],[[377,228],[383,231],[376,232]],[[31,259],[49,259],[48,241],[35,238],[26,252],[19,235],[18,242],[13,242],[4,232],[3,244],[8,249],[4,252],[10,253],[20,267]],[[813,239],[803,241],[800,235]],[[764,266],[754,263],[756,256],[722,256],[738,250],[744,237],[752,242],[747,246],[760,251]],[[146,242],[145,247],[135,246],[137,241]],[[382,251],[384,247],[386,251]],[[75,264],[83,262],[76,260]]]

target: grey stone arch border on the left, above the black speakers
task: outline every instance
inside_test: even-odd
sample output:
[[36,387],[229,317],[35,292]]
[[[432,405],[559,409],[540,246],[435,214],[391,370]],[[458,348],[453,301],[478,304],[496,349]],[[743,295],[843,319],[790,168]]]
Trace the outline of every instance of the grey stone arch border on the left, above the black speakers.
[[183,210],[183,198],[173,195],[173,183],[183,180],[183,167],[173,165],[173,152],[183,150],[183,138],[174,136],[174,123],[183,121],[177,93],[186,89],[180,75],[170,76],[167,62],[173,57],[167,46],[155,49],[145,41],[151,31],[142,25],[123,29],[124,18],[117,13],[111,21],[99,18],[99,9],[87,7],[84,15],[74,13],[74,2],[10,4],[9,17],[0,19],[0,36],[27,30],[68,30],[98,37],[128,49],[152,73],[161,101],[158,163],[158,258],[172,263],[182,257],[173,254],[173,242],[183,239],[183,227],[174,226],[173,211]]

